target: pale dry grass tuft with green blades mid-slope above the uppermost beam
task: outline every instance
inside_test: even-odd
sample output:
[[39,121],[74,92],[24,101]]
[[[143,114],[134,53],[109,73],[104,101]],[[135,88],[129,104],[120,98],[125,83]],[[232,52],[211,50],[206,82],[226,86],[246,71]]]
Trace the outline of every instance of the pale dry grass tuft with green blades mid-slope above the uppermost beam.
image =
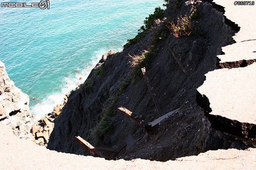
[[150,58],[154,55],[154,47],[150,47],[148,50],[144,50],[141,55],[130,55],[130,67],[132,70],[130,74],[132,75],[132,81],[137,83],[142,78],[142,71],[141,68],[145,67],[148,68],[148,62]]

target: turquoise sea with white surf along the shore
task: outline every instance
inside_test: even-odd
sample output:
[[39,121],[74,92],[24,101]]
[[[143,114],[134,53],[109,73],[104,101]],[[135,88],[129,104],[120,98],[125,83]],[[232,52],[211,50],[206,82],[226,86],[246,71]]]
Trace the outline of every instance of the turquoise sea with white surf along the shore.
[[[40,0],[0,0],[40,2]],[[64,102],[110,49],[121,51],[163,0],[50,0],[50,9],[0,8],[0,60],[37,117]],[[79,78],[82,80],[79,81]],[[68,84],[66,84],[68,83]],[[36,97],[36,100],[32,98]]]

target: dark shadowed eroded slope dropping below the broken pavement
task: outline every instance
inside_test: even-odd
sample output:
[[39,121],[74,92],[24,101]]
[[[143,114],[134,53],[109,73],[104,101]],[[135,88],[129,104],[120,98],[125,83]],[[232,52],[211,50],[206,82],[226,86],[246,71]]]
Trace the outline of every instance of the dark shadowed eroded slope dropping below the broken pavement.
[[[211,128],[196,103],[196,89],[203,84],[204,74],[217,68],[216,56],[222,53],[221,47],[234,43],[232,36],[239,28],[224,18],[220,6],[193,0],[180,2],[181,5],[170,1],[161,21],[140,42],[102,58],[84,86],[69,96],[55,119],[48,149],[90,155],[75,141],[74,137],[80,136],[101,149],[107,147],[107,151],[102,151],[105,156],[166,161],[231,147],[235,139],[223,138],[223,133]],[[199,13],[192,23],[200,33],[175,37],[166,30],[166,21],[191,16],[194,9]],[[147,82],[152,88],[148,88],[142,77],[137,83],[126,82],[134,76],[129,56],[141,55],[152,46],[155,51],[146,63]],[[132,119],[116,112],[119,106],[126,107],[146,123],[179,110],[154,126],[149,137]],[[108,109],[114,111],[109,121],[114,125],[112,133],[98,141],[93,132]],[[237,142],[236,147],[243,147],[242,143]]]

